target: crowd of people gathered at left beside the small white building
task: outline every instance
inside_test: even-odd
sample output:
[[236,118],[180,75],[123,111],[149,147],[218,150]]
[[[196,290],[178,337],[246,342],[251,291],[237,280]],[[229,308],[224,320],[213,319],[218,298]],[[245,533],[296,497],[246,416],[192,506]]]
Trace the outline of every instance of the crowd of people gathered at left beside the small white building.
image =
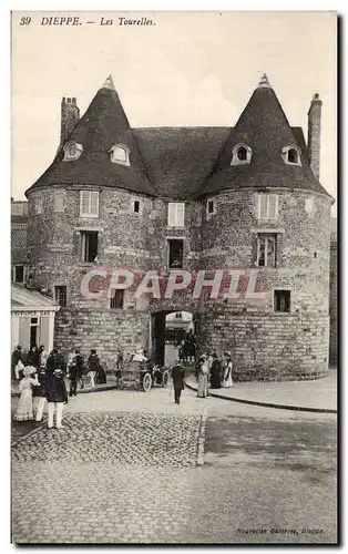
[[[48,403],[48,427],[53,427],[55,411],[55,427],[61,429],[68,396],[76,396],[78,384],[83,389],[85,375],[91,387],[106,382],[105,371],[94,349],[91,350],[85,367],[79,349],[72,348],[65,361],[57,348],[49,353],[43,345],[40,348],[33,345],[24,359],[21,346],[17,346],[12,352],[12,377],[19,381],[20,398],[14,420],[42,421]],[[65,381],[69,382],[69,394]]]

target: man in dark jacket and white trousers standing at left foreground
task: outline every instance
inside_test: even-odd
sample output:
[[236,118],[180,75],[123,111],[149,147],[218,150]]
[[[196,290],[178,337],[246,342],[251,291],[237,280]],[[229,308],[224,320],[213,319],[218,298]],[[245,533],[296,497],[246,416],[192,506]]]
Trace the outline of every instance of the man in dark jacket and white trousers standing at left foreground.
[[48,428],[52,429],[55,408],[55,427],[62,429],[64,403],[68,403],[68,392],[64,382],[64,372],[61,368],[47,372],[45,398],[49,403]]

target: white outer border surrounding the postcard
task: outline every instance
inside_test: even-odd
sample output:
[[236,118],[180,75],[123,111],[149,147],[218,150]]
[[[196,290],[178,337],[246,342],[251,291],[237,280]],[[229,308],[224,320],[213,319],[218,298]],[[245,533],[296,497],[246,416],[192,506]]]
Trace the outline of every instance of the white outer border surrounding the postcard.
[[[293,2],[287,6],[291,7],[291,10],[279,10],[279,2],[278,1],[266,1],[262,2],[262,10],[260,10],[260,3],[257,0],[254,1],[248,1],[247,6],[243,6],[243,10],[238,10],[238,7],[240,6],[240,2],[231,2],[231,0],[219,0],[217,3],[213,2],[212,0],[207,1],[193,1],[193,0],[176,0],[174,1],[168,1],[165,3],[166,10],[163,10],[163,0],[152,0],[152,2],[145,1],[145,0],[127,0],[127,2],[114,2],[114,1],[104,1],[101,4],[98,4],[94,1],[90,0],[75,0],[73,2],[73,11],[82,11],[82,10],[93,10],[93,11],[190,11],[190,10],[197,10],[197,11],[304,11],[304,10],[311,10],[311,11],[338,11],[342,16],[346,16],[347,13],[347,2],[339,0],[336,2],[332,1],[311,1],[311,2],[306,2],[306,1],[299,1],[299,0],[293,0]],[[9,144],[10,144],[10,129],[11,129],[11,100],[10,100],[10,88],[7,86],[7,83],[10,83],[10,17],[9,17],[9,11],[31,11],[31,10],[42,10],[42,11],[72,11],[71,10],[72,4],[71,2],[66,1],[61,1],[61,2],[40,2],[40,1],[31,1],[30,6],[28,6],[28,2],[24,1],[12,1],[12,2],[3,2],[0,8],[0,25],[1,25],[1,33],[0,33],[0,40],[2,42],[2,48],[0,49],[1,52],[1,75],[2,79],[4,78],[4,82],[2,80],[2,86],[1,86],[1,93],[2,93],[2,147],[1,147],[1,156],[2,156],[2,163],[1,163],[1,168],[2,168],[2,183],[1,183],[1,201],[0,202],[0,224],[1,224],[1,235],[4,238],[3,240],[3,246],[4,250],[2,252],[2,273],[1,273],[1,294],[2,294],[2,315],[8,314],[8,317],[10,317],[10,249],[6,248],[7,244],[7,237],[9,236],[10,232],[10,155],[9,155]],[[345,23],[345,22],[344,22]],[[344,41],[344,38],[342,38]],[[342,42],[341,44],[341,50],[346,53],[346,43]],[[341,52],[342,55],[342,52]],[[346,58],[346,57],[345,57]],[[342,61],[342,65],[346,63],[346,59]],[[342,80],[345,81],[345,74],[342,75]],[[345,88],[345,82],[342,83],[342,89],[346,91]],[[341,102],[344,102],[344,91],[341,92]],[[347,110],[342,112],[345,116],[344,124],[342,124],[342,135],[345,135],[345,131],[347,132]],[[346,144],[347,144],[347,138],[346,138]],[[346,145],[341,144],[341,163],[344,160],[347,160],[347,152],[346,152]],[[344,191],[347,186],[345,175],[341,175],[341,189]],[[344,198],[340,198],[344,201]],[[342,208],[344,212],[344,208]],[[342,218],[342,240],[341,244],[348,244],[347,240],[347,226],[345,225],[345,218]],[[347,275],[347,257],[342,259],[342,274]],[[344,279],[341,280],[342,286]],[[344,308],[346,308],[346,298],[342,297],[342,302],[344,302]],[[342,318],[344,320],[344,318]],[[4,356],[4,359],[7,359],[8,356],[8,368],[10,367],[10,351],[9,351],[9,345],[10,345],[10,326],[8,325],[9,321],[6,319],[6,316],[1,318],[1,341],[2,341],[2,352],[7,352]],[[342,343],[345,343],[345,337],[344,332],[341,335],[342,337]],[[4,371],[6,371],[6,365],[4,365]],[[342,359],[341,359],[341,367],[345,368],[345,357],[342,352]],[[8,373],[4,373],[6,376]],[[345,392],[346,392],[346,383],[347,383],[347,378],[342,382],[345,386]],[[4,383],[7,381],[4,380]],[[2,401],[1,401],[1,425],[2,425],[2,433],[1,433],[1,440],[2,440],[2,445],[3,449],[7,449],[7,445],[10,444],[10,398],[8,393],[8,387],[4,384],[2,387]],[[345,431],[347,430],[347,421],[341,422],[341,430]],[[342,438],[344,439],[344,438]],[[347,441],[344,442],[344,444],[347,444]],[[9,452],[9,450],[8,450]],[[342,454],[345,454],[344,452]],[[9,505],[10,505],[10,466],[9,466],[9,458],[7,459],[6,455],[1,456],[1,476],[2,476],[2,482],[1,482],[1,527],[0,527],[0,544],[1,544],[1,552],[10,552],[14,548],[13,545],[9,544],[10,540],[10,513],[9,513]],[[344,465],[344,464],[342,464]],[[346,492],[346,490],[342,490],[342,493]],[[344,499],[342,499],[342,504],[344,504]],[[341,521],[341,530],[347,529],[347,510],[342,511],[344,513],[341,514],[345,520]],[[133,548],[131,548],[133,550]],[[135,550],[135,548],[134,548]],[[149,550],[149,548],[147,548]],[[201,548],[198,548],[199,551]],[[204,548],[206,550],[206,548]],[[216,550],[212,547],[211,550]],[[244,546],[243,550],[246,551],[252,551],[247,546]],[[266,551],[270,548],[264,548]],[[287,548],[288,550],[288,548]],[[293,548],[289,548],[293,550]],[[38,551],[38,548],[31,548],[32,551]],[[82,548],[74,548],[75,552],[82,552]],[[104,552],[105,548],[95,548],[95,551]],[[158,548],[156,548],[158,552]],[[306,552],[307,548],[301,548],[296,547],[294,548],[295,552]],[[329,548],[320,548],[321,552],[329,552]],[[49,548],[40,548],[40,552],[50,552]],[[202,550],[203,552],[203,550]]]

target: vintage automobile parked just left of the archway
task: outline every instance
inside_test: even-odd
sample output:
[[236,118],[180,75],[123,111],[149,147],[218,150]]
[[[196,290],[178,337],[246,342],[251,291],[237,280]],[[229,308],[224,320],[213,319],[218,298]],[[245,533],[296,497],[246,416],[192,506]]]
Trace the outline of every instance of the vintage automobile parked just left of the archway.
[[167,387],[170,382],[170,368],[153,366],[146,361],[129,361],[117,371],[119,389],[132,388],[147,392],[155,384]]

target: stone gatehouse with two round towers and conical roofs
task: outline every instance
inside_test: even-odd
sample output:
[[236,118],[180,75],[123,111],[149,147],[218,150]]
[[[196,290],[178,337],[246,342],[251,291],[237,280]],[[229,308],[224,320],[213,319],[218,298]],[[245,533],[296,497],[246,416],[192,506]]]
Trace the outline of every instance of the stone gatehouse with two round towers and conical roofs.
[[[306,144],[266,75],[234,127],[131,127],[111,78],[81,119],[63,99],[57,156],[25,193],[28,277],[61,306],[57,345],[94,347],[112,367],[116,347],[142,343],[161,362],[166,315],[188,311],[198,351],[231,350],[236,380],[324,376],[332,198],[319,183],[320,112],[315,94]],[[113,268],[240,278],[227,296],[88,297]],[[91,270],[102,276],[81,294]],[[246,294],[253,278],[262,298]]]

